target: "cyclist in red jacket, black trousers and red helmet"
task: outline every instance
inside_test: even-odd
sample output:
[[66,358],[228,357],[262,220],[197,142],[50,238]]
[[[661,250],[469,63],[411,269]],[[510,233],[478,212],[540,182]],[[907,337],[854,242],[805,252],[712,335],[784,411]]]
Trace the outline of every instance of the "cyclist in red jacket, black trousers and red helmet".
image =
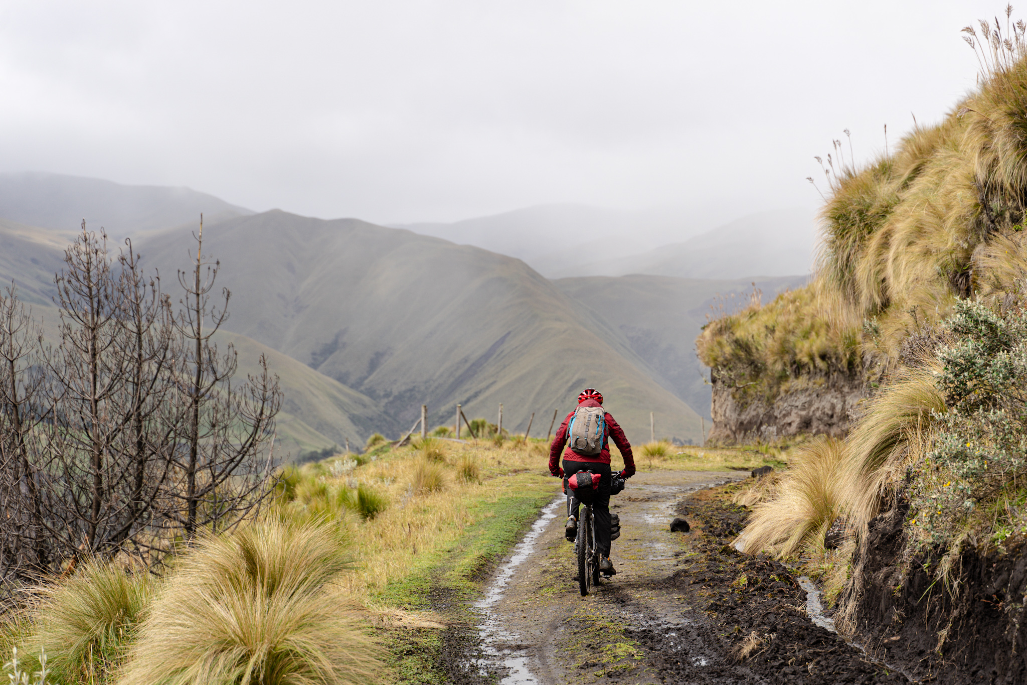
[[[581,407],[602,407],[603,393],[596,388],[585,388],[578,394],[578,408]],[[560,424],[549,446],[549,472],[558,478],[573,475],[578,471],[592,471],[599,473],[599,490],[596,493],[596,502],[593,504],[593,511],[596,517],[596,547],[602,558],[599,563],[599,570],[605,575],[614,575],[617,571],[610,561],[610,482],[613,471],[610,469],[610,447],[607,439],[612,437],[613,444],[620,450],[620,456],[624,459],[624,469],[620,472],[621,478],[635,475],[635,457],[632,455],[632,445],[627,442],[624,431],[617,422],[610,416],[609,412],[603,412],[605,431],[603,434],[602,449],[598,454],[580,454],[567,447],[564,452],[564,465],[560,467],[560,452],[568,439],[568,424],[574,418],[575,412],[571,412]],[[577,535],[577,513],[578,503],[573,498],[568,505],[567,527],[565,535],[568,540],[573,540]]]

